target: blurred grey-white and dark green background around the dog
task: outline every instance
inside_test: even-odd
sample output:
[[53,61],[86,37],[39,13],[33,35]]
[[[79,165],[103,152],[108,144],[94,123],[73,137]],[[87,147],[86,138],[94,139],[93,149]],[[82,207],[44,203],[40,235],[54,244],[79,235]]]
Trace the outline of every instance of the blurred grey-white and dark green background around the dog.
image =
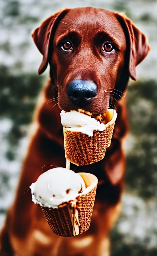
[[122,214],[111,232],[112,256],[157,255],[157,1],[0,0],[0,227],[13,202],[27,132],[48,70],[37,74],[41,54],[31,38],[63,7],[94,6],[125,12],[151,46],[126,95],[130,133]]

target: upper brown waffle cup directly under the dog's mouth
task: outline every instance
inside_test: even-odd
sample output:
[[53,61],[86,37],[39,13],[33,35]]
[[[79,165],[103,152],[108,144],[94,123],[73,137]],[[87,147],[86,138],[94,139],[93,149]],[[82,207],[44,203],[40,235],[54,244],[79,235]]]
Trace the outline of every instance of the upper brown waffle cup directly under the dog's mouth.
[[[108,110],[109,111],[109,110]],[[109,112],[112,119],[105,125],[103,131],[94,131],[89,137],[78,131],[64,130],[65,157],[76,165],[88,165],[98,162],[105,156],[106,148],[110,146],[117,113]]]

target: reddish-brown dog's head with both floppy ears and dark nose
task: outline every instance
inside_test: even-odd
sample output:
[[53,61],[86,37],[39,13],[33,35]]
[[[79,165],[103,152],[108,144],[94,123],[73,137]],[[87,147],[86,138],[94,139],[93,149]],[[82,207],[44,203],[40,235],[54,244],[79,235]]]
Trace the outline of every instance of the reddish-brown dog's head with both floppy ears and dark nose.
[[[65,9],[32,34],[58,86],[62,110],[84,108],[103,114],[112,98],[120,98],[129,76],[149,51],[146,37],[124,15],[86,7]],[[111,105],[112,106],[112,103]]]

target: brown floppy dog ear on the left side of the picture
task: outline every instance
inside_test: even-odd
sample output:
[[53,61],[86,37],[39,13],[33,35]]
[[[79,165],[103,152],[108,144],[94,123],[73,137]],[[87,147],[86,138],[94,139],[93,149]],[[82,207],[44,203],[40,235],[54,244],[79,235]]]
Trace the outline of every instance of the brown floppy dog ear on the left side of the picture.
[[40,53],[43,55],[41,65],[38,70],[39,74],[42,74],[48,66],[49,56],[52,54],[55,31],[59,22],[69,10],[70,9],[65,9],[50,16],[32,33],[33,40]]

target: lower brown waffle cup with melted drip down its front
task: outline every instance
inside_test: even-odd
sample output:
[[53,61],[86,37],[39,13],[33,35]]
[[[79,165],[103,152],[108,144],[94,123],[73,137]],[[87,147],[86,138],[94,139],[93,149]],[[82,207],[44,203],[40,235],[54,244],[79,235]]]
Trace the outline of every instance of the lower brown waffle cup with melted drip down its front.
[[[89,173],[79,173],[84,179],[86,190],[77,197],[76,209],[79,214],[79,234],[88,230],[92,217],[95,194],[98,184],[98,179]],[[68,210],[69,203],[63,203],[58,208],[41,207],[44,217],[53,233],[59,236],[73,236],[73,226]]]

